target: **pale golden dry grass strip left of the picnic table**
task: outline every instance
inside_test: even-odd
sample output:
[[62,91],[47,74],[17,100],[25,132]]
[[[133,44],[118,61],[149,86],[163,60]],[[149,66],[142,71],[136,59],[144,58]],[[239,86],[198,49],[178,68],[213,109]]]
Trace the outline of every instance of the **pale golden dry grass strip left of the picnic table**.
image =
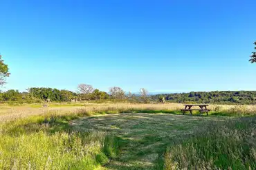
[[27,118],[29,116],[42,116],[44,114],[56,113],[56,114],[70,114],[77,113],[80,109],[86,111],[104,111],[104,110],[119,110],[119,109],[166,109],[176,110],[182,108],[181,104],[127,104],[127,103],[86,103],[81,105],[50,105],[50,107],[42,107],[42,105],[21,105],[10,106],[0,105],[0,123],[10,120],[17,120],[20,118]]

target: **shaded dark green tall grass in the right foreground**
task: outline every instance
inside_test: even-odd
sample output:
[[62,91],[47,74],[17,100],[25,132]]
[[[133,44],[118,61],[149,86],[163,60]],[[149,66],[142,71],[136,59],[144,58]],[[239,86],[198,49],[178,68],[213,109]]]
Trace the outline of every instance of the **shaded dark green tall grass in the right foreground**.
[[215,123],[175,141],[165,154],[165,166],[167,170],[256,169],[256,116]]

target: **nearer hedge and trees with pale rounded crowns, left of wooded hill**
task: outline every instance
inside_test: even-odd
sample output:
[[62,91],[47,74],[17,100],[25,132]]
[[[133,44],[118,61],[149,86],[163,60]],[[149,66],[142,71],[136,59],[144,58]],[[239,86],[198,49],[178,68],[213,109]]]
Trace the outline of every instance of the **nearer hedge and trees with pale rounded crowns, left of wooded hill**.
[[42,103],[42,102],[75,102],[84,100],[125,100],[134,103],[148,103],[149,95],[147,89],[140,89],[140,95],[126,93],[120,87],[111,87],[109,92],[102,92],[94,89],[92,85],[80,84],[77,86],[77,92],[66,89],[56,89],[49,87],[31,87],[26,92],[19,92],[10,89],[6,92],[0,92],[0,101],[19,102],[19,103]]

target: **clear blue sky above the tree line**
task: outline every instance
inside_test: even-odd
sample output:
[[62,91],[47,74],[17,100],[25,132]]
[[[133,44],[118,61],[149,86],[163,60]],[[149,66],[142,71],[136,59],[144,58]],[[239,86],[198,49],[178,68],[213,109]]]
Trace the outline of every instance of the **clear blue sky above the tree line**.
[[6,89],[256,90],[255,0],[0,1]]

